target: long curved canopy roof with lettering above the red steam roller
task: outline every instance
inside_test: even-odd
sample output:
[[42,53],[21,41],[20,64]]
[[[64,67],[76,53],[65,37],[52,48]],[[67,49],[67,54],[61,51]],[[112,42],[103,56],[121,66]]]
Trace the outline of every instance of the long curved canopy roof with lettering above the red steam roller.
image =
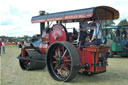
[[98,6],[86,9],[57,12],[32,17],[32,23],[48,21],[68,21],[68,20],[112,20],[118,19],[119,12],[109,6]]

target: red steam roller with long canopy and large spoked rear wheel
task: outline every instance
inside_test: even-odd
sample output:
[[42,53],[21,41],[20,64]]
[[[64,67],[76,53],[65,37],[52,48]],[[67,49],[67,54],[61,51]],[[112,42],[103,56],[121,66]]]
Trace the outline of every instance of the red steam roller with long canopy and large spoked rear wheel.
[[[108,6],[65,11],[32,17],[32,23],[40,23],[41,39],[32,40],[30,46],[21,49],[18,56],[23,70],[48,68],[48,72],[57,81],[70,81],[78,72],[97,74],[106,71],[108,46],[89,46],[81,48],[74,33],[68,33],[63,23],[79,22],[81,19],[112,20],[117,19],[117,10]],[[56,22],[49,27],[49,22]],[[45,25],[47,24],[47,27]],[[79,36],[78,36],[79,37]]]

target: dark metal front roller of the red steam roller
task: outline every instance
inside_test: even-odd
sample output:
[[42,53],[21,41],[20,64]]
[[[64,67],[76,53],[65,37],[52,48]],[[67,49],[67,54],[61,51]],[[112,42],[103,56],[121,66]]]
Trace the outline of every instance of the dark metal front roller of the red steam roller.
[[[46,66],[45,62],[37,62],[34,60],[30,60],[30,59],[38,59],[40,57],[43,57],[41,54],[39,54],[35,50],[25,50],[24,57],[26,58],[26,60],[19,59],[20,67],[23,70],[44,69]],[[28,60],[27,60],[27,58],[28,58]]]

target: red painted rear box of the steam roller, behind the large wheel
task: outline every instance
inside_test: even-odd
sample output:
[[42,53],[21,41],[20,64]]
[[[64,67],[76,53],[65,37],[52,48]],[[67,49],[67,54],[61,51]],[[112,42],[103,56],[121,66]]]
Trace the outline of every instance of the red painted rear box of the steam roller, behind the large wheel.
[[[105,54],[109,50],[108,47],[102,47],[100,46],[94,46],[94,47],[87,47],[83,48],[83,50],[80,50],[77,48],[77,51],[80,55],[80,64],[85,65],[89,64],[90,68],[84,69],[86,72],[92,72],[92,73],[99,73],[106,71],[106,66],[93,66],[93,64],[99,63],[99,56],[100,54]],[[107,59],[104,59],[104,62],[107,62]]]

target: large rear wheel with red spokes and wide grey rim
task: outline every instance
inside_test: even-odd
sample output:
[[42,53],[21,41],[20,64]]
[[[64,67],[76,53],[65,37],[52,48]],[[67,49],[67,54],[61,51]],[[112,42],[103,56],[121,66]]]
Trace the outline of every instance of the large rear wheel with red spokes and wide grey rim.
[[53,79],[71,81],[78,73],[80,57],[69,42],[53,43],[47,53],[47,68]]

